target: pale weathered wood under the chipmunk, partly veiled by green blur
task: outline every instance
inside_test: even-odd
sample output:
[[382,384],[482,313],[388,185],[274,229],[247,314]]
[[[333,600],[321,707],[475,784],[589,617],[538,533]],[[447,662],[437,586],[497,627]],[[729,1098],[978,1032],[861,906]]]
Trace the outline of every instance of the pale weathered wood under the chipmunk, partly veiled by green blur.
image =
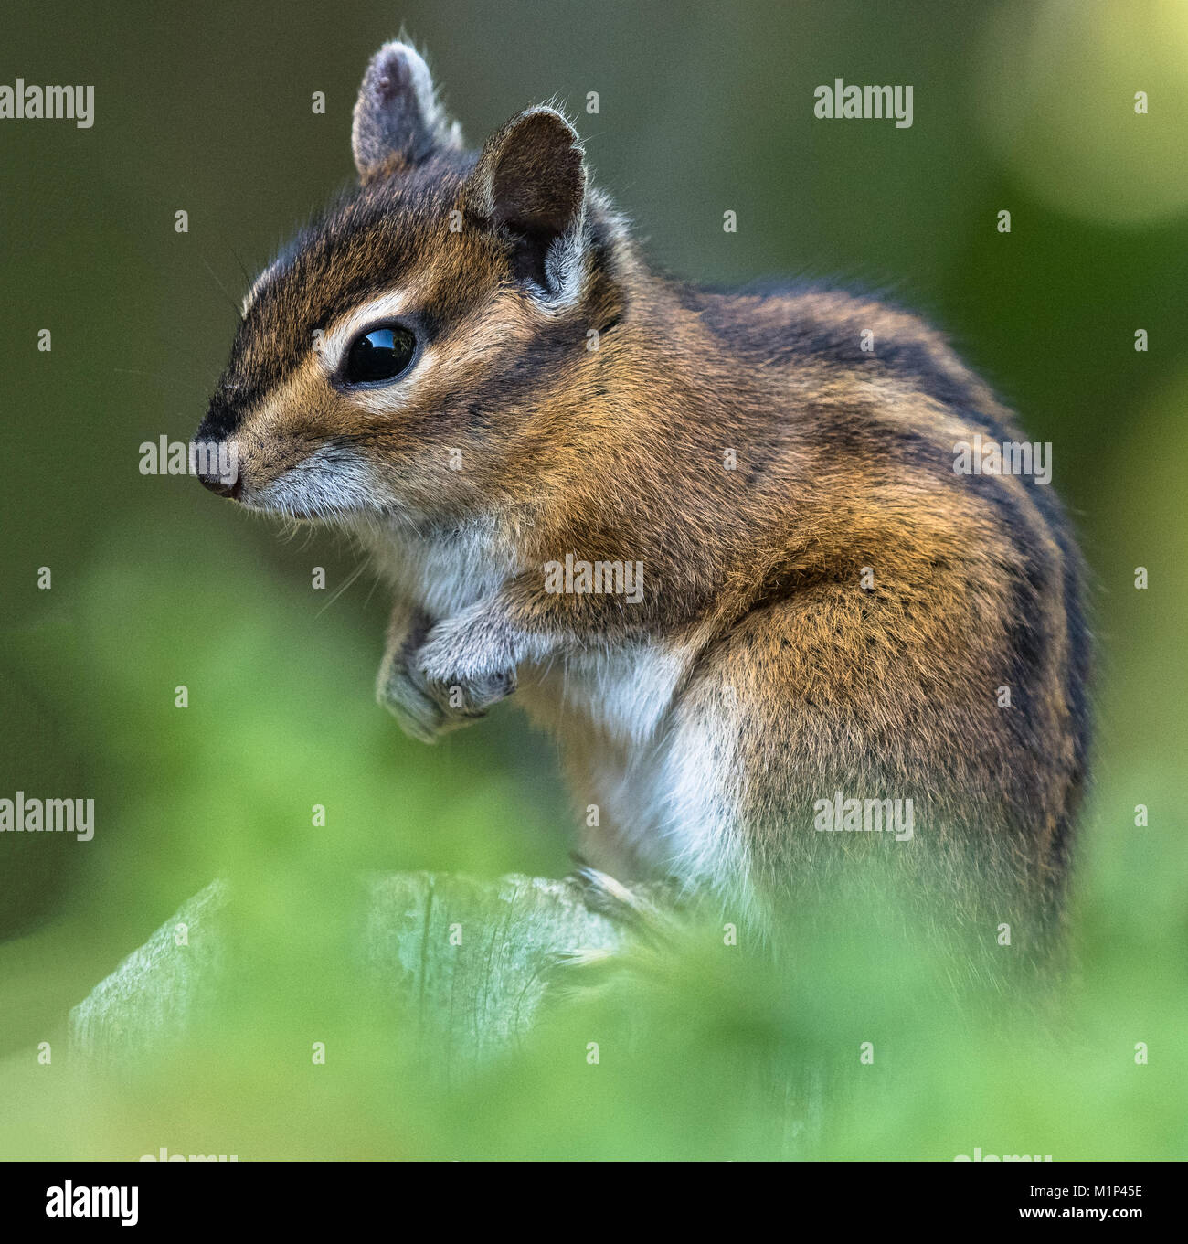
[[[363,896],[356,967],[414,1008],[447,1061],[479,1060],[522,1035],[559,952],[613,950],[623,940],[572,881],[408,872],[368,878]],[[216,881],[183,904],[73,1008],[72,1049],[131,1065],[183,1039],[226,998],[236,958],[250,953],[230,933],[233,903],[231,887]],[[460,927],[453,939],[452,926]]]

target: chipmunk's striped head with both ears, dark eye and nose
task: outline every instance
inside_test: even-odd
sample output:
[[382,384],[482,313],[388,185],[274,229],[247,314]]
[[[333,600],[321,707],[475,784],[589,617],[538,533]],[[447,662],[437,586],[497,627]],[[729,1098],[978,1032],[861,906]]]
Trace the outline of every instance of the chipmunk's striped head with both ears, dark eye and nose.
[[560,112],[468,153],[403,44],[367,70],[352,147],[358,189],[244,301],[199,473],[294,518],[460,515],[524,475],[547,394],[588,376],[590,330],[621,313],[621,225]]

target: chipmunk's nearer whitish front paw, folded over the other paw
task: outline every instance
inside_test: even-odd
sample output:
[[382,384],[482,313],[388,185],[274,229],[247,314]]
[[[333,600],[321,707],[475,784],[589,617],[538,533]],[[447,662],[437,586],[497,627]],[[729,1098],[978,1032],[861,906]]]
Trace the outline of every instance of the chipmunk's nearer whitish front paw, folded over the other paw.
[[463,612],[439,622],[413,664],[429,695],[447,713],[481,717],[516,688],[510,644],[481,615]]

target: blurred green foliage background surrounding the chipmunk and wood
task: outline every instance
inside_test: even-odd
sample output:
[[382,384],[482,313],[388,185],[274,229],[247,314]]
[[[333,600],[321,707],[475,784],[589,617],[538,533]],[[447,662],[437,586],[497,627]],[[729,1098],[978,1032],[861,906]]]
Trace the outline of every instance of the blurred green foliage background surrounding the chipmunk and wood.
[[[350,544],[286,542],[192,479],[141,475],[138,447],[189,438],[248,279],[350,182],[357,85],[402,24],[471,143],[567,101],[659,264],[886,290],[1054,443],[1100,648],[1060,1036],[926,1018],[912,970],[872,991],[851,947],[753,998],[753,1023],[709,990],[613,1066],[586,1066],[562,1024],[430,1092],[388,1021],[346,1006],[317,931],[357,872],[567,870],[554,748],[510,708],[406,740],[372,702],[387,602]],[[0,122],[0,795],[92,796],[97,829],[0,836],[0,1154],[779,1156],[724,1051],[756,1031],[801,1062],[848,1051],[875,1011],[894,1067],[865,1069],[862,1108],[840,1097],[802,1151],[1188,1153],[1188,5],[46,4],[10,6],[2,50],[2,82],[93,83],[96,121]],[[913,126],[815,119],[835,77],[911,83]],[[219,1054],[133,1082],[70,1067],[66,1010],[215,876],[275,934],[280,984]],[[315,1013],[352,1050],[316,1084]]]

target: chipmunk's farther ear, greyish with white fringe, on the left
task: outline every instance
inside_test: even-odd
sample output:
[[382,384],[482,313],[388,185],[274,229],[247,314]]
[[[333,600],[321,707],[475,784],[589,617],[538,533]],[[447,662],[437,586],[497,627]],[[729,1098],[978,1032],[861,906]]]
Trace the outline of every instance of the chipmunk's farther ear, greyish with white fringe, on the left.
[[438,103],[429,66],[408,44],[384,44],[355,104],[351,149],[360,179],[419,164],[443,147],[460,151],[462,131]]

